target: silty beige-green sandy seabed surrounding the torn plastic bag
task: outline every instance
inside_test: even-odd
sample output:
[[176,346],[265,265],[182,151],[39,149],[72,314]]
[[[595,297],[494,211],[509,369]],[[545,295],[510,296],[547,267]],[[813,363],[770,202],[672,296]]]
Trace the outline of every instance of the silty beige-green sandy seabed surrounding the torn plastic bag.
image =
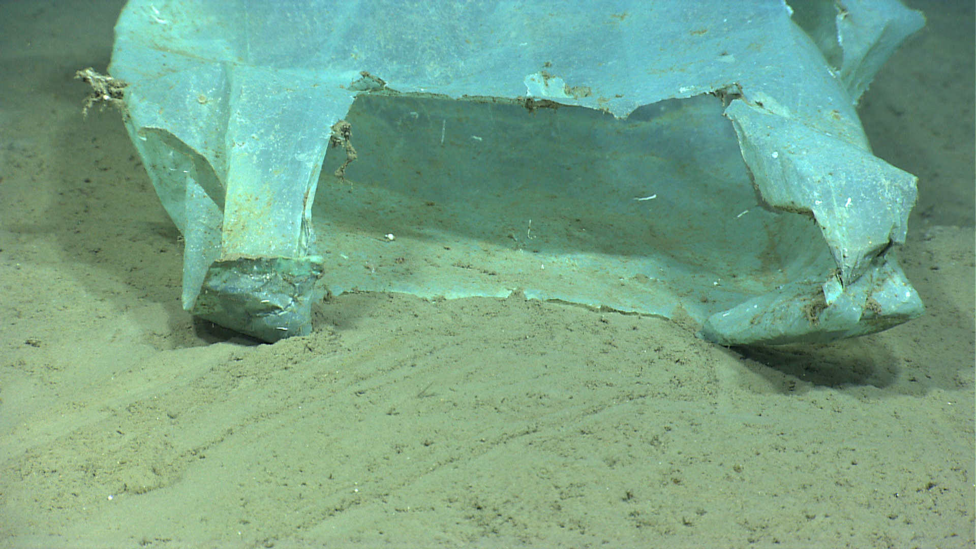
[[0,547],[972,547],[971,2],[861,112],[919,177],[924,317],[733,351],[656,317],[349,294],[256,345],[180,306],[115,112],[121,4],[0,3]]

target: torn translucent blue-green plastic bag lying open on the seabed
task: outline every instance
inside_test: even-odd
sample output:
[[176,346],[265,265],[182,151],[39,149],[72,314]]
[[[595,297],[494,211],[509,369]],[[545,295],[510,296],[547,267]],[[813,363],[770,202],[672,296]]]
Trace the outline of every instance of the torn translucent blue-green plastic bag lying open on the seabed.
[[854,105],[923,20],[795,4],[132,0],[110,72],[183,305],[227,327],[307,333],[326,289],[522,292],[830,341],[922,312],[915,178]]

